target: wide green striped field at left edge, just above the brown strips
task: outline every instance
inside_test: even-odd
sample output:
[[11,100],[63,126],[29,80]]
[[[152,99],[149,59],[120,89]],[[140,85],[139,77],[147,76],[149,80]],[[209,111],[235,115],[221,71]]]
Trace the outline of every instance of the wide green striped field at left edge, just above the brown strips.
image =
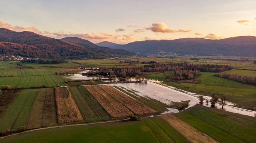
[[68,86],[65,81],[58,75],[38,75],[25,77],[1,77],[0,85],[12,85],[13,88],[30,88],[30,87],[56,87]]

